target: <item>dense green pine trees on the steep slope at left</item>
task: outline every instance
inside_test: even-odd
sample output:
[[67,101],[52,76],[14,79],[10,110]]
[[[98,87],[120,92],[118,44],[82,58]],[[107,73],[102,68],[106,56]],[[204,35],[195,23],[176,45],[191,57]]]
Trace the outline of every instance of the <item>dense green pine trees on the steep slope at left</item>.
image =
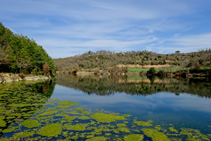
[[0,23],[0,72],[52,74],[54,70],[54,62],[42,46]]

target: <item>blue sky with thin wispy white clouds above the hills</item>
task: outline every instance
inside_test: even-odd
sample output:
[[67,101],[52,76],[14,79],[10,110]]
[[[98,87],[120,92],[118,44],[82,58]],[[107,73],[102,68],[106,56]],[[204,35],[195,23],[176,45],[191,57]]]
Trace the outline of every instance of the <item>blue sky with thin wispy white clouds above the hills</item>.
[[211,0],[1,0],[0,22],[52,58],[211,48]]

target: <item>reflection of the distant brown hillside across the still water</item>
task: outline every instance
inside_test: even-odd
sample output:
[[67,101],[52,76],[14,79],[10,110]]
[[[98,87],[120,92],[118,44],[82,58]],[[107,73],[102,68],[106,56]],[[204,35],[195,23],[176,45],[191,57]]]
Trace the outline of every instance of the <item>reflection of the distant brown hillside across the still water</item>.
[[211,97],[211,83],[200,79],[155,79],[146,78],[100,78],[96,76],[79,77],[60,75],[57,84],[78,89],[88,94],[111,95],[116,92],[130,95],[150,95],[157,92],[189,93],[202,97]]

